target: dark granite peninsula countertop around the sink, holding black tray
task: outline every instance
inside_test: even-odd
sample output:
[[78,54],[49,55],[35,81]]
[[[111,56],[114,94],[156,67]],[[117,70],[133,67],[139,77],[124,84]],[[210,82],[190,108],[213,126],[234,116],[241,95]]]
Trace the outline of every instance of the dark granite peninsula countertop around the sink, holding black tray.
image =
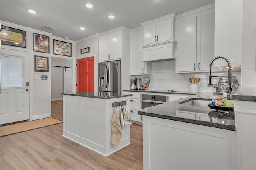
[[[230,113],[228,111],[217,112],[216,110],[210,109],[208,105],[197,106],[179,103],[192,98],[205,98],[206,100],[209,100],[209,103],[211,103],[211,96],[207,96],[205,94],[212,93],[204,93],[204,95],[197,94],[172,102],[147,107],[145,109],[138,110],[138,114],[235,131],[234,111],[231,111]],[[199,118],[195,120],[194,116],[193,119],[184,118],[184,116],[176,114],[179,111],[187,114],[200,114],[202,116],[207,116],[208,120],[202,121],[199,120]]]

